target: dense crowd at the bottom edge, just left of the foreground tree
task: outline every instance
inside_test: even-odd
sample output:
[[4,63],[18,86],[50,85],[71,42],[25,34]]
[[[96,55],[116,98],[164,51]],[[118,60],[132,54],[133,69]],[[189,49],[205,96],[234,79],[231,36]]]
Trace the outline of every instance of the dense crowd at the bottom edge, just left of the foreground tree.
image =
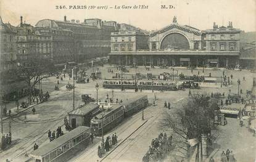
[[167,137],[166,133],[160,133],[158,138],[152,139],[151,145],[146,155],[143,156],[143,162],[162,160],[171,150],[173,137]]

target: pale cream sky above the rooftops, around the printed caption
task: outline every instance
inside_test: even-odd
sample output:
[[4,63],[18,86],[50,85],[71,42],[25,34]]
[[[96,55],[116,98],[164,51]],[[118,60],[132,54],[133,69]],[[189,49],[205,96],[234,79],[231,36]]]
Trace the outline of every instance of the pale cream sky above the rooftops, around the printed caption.
[[[69,9],[70,6],[95,6],[96,9]],[[115,6],[145,5],[147,9],[115,9]],[[161,5],[175,7],[161,9]],[[66,9],[56,9],[65,6]],[[107,6],[107,9],[97,9]],[[113,7],[113,8],[110,8]],[[0,15],[4,23],[16,26],[23,21],[35,25],[46,18],[53,20],[101,18],[128,23],[144,30],[159,30],[172,23],[173,17],[181,25],[199,30],[212,28],[213,22],[234,28],[256,31],[256,0],[1,0]]]

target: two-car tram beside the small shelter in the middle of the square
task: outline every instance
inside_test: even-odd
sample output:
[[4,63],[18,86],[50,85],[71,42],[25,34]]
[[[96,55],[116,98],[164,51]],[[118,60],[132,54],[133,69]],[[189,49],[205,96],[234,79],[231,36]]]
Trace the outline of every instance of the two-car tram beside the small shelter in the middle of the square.
[[96,136],[100,136],[102,135],[102,127],[103,133],[107,132],[115,128],[124,118],[146,108],[147,105],[147,95],[136,95],[136,97],[125,102],[106,108],[102,113],[91,119],[91,132]]

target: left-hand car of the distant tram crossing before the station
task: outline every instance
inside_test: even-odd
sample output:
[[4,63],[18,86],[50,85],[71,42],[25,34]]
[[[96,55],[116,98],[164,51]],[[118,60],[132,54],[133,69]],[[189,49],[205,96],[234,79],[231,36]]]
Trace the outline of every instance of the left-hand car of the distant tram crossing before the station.
[[135,89],[136,81],[134,79],[105,79],[103,87],[109,89]]

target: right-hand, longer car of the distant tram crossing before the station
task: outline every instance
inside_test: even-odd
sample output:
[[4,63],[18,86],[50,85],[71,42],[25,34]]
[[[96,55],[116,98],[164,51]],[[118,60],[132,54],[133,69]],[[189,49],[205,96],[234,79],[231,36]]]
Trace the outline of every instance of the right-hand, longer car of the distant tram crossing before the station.
[[175,81],[159,81],[159,80],[140,80],[138,81],[138,89],[152,89],[156,91],[176,91],[178,90]]

